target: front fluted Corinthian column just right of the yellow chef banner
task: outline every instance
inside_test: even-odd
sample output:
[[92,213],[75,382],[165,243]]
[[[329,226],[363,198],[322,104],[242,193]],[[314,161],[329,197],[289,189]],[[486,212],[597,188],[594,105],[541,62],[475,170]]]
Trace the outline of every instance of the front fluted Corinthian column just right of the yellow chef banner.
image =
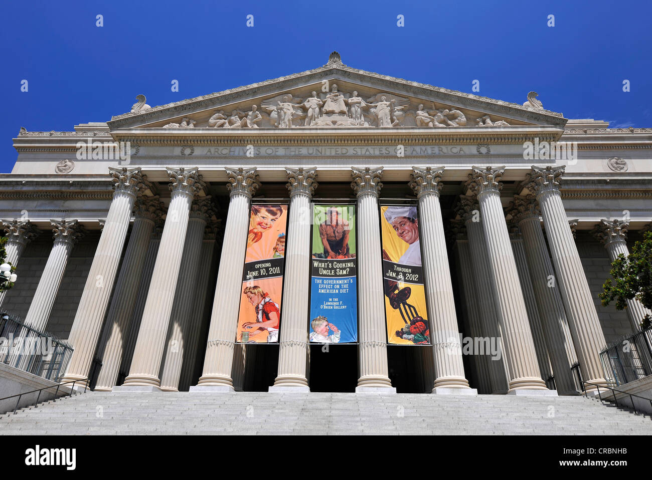
[[477,390],[469,388],[462,363],[451,269],[439,205],[443,171],[444,167],[412,167],[412,181],[409,184],[419,202],[419,238],[423,247],[430,338],[434,346],[435,381],[432,393],[477,393]]

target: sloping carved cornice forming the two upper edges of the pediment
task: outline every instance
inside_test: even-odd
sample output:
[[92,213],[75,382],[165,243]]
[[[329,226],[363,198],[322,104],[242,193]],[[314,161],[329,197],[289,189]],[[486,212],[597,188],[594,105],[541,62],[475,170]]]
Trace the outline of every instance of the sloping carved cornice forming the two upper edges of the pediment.
[[138,124],[145,124],[156,121],[156,119],[161,117],[161,113],[167,113],[169,117],[179,117],[182,113],[211,109],[216,105],[228,106],[234,102],[244,100],[247,95],[256,97],[265,96],[297,88],[306,84],[317,83],[325,78],[329,78],[329,76],[331,78],[342,79],[344,81],[352,80],[354,82],[356,79],[360,81],[361,78],[373,79],[374,87],[376,88],[386,87],[391,91],[396,91],[398,89],[400,91],[408,92],[408,94],[415,97],[430,98],[437,102],[455,104],[456,106],[473,110],[480,109],[481,111],[486,111],[486,109],[491,109],[492,113],[496,113],[497,115],[502,114],[507,117],[518,115],[540,124],[550,123],[564,125],[567,121],[563,118],[561,113],[550,110],[534,109],[533,107],[526,107],[520,104],[505,102],[503,100],[496,100],[484,96],[434,87],[433,85],[428,85],[426,83],[419,83],[374,72],[367,72],[366,70],[351,68],[342,63],[328,63],[312,70],[252,83],[251,85],[243,85],[222,92],[214,92],[194,98],[188,98],[186,100],[181,100],[180,102],[155,106],[145,111],[115,115],[111,118],[111,121],[108,122],[108,126],[113,130],[114,128],[134,124],[135,122],[138,122]]

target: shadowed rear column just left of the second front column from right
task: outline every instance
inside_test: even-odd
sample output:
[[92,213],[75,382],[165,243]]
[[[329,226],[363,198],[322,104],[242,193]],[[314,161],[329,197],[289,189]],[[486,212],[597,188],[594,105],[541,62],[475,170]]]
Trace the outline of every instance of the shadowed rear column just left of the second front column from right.
[[[464,221],[466,235],[469,239],[469,249],[471,250],[471,260],[473,266],[473,275],[475,276],[475,290],[472,302],[477,298],[479,300],[480,320],[482,332],[488,337],[491,345],[492,339],[496,339],[494,345],[499,346],[499,352],[496,355],[489,356],[488,352],[484,353],[484,358],[489,369],[489,380],[491,393],[507,393],[507,365],[503,356],[502,338],[498,324],[498,313],[494,303],[494,285],[491,279],[491,266],[489,264],[486,240],[482,232],[482,222],[480,219],[479,205],[472,197],[460,195],[460,206],[458,215]],[[498,341],[500,343],[498,343]],[[484,344],[486,345],[486,344]],[[481,355],[481,352],[474,352],[475,355]]]

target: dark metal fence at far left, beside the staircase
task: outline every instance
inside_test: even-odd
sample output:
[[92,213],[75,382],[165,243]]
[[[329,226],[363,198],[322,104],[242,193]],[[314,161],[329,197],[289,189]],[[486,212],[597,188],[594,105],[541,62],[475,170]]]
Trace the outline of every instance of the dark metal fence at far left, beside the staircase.
[[39,332],[6,312],[0,313],[0,363],[58,382],[72,350],[55,335]]

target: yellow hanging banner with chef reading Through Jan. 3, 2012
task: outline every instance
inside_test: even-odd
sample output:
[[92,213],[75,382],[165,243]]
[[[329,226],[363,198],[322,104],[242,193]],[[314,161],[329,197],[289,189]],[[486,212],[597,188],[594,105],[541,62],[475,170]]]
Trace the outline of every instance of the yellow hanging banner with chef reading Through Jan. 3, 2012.
[[381,205],[387,342],[430,345],[416,205]]

